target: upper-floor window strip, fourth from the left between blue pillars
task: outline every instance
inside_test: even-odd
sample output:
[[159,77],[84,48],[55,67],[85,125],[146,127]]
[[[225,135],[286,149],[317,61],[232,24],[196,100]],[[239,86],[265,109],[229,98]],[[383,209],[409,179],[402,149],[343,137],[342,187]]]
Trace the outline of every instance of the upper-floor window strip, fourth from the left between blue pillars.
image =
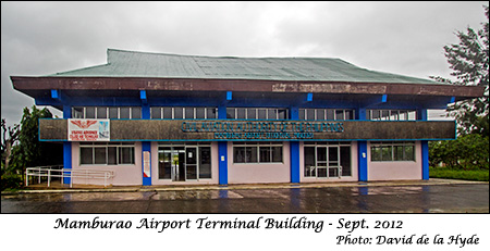
[[353,109],[299,109],[299,120],[350,121],[355,120]]

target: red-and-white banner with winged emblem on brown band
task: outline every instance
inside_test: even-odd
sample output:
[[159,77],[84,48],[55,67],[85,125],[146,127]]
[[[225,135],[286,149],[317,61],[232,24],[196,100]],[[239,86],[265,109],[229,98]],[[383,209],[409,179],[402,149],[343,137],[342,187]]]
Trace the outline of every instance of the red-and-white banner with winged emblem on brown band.
[[68,120],[69,141],[109,141],[109,120]]

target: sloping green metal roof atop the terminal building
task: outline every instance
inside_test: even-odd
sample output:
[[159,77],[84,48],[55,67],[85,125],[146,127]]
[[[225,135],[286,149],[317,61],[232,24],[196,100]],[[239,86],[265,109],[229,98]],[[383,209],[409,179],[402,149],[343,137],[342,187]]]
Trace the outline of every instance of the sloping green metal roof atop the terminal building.
[[197,57],[114,49],[107,54],[107,64],[49,76],[437,84],[360,68],[340,59]]

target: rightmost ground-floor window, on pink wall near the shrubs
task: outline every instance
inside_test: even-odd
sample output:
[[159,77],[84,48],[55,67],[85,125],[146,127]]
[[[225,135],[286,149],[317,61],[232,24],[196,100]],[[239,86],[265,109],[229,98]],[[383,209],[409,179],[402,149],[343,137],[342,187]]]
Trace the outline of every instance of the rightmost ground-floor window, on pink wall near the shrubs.
[[415,141],[371,142],[371,161],[415,161]]

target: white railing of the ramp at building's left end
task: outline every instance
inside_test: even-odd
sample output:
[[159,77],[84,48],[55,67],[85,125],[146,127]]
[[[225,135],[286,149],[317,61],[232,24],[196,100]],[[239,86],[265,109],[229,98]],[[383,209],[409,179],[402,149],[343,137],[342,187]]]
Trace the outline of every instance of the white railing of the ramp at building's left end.
[[48,187],[51,185],[51,178],[59,177],[61,183],[64,184],[64,178],[70,178],[70,187],[73,187],[73,179],[85,179],[85,184],[91,179],[103,179],[103,186],[107,187],[108,181],[112,184],[112,178],[115,176],[114,171],[107,170],[69,170],[63,166],[37,166],[27,167],[25,172],[25,185],[29,185],[29,176],[38,177],[38,183],[41,181],[41,177],[47,177]]

